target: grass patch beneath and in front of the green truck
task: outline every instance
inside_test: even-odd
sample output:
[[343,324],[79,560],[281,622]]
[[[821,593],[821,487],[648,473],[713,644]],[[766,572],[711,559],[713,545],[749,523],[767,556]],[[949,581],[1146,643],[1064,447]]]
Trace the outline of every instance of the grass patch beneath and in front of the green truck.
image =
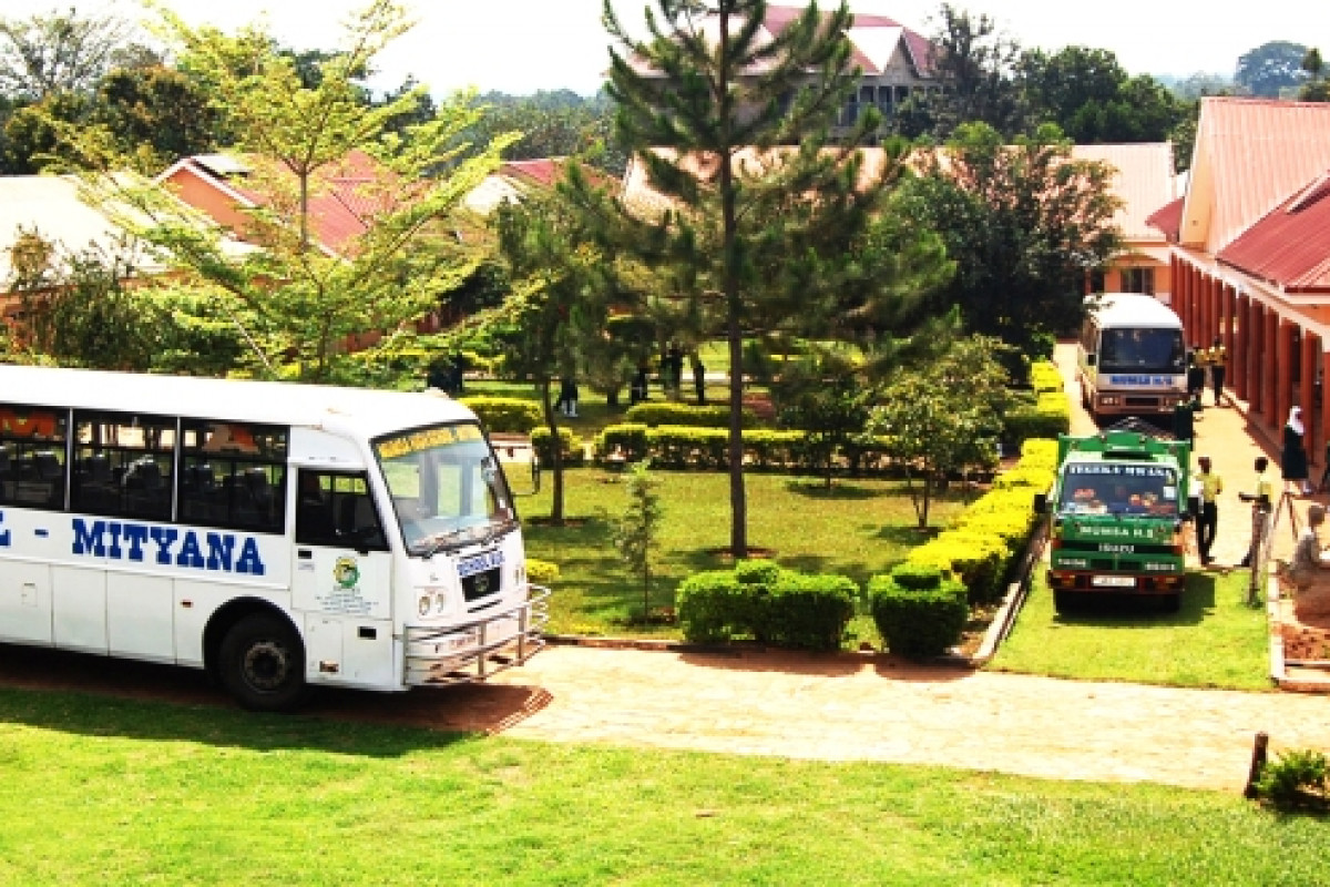
[[1087,681],[1270,689],[1264,608],[1248,573],[1192,572],[1177,613],[1145,608],[1059,616],[1043,573],[991,668]]

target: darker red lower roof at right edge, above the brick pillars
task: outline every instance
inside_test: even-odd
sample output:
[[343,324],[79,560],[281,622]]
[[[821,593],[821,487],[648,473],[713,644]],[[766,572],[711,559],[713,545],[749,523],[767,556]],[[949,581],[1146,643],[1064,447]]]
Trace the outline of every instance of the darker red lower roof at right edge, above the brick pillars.
[[1330,168],[1216,258],[1289,293],[1330,291]]

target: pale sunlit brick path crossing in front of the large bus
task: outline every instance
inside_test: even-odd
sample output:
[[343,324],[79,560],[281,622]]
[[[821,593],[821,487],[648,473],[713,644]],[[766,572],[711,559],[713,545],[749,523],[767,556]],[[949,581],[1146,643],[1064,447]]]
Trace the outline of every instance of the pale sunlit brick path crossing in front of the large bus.
[[[1271,747],[1330,749],[1330,701],[1319,696],[1059,681],[849,656],[556,646],[496,684],[527,689],[527,710],[515,709],[496,729],[553,742],[1225,790],[1246,783],[1258,731],[1270,734]],[[467,690],[479,698],[497,688]]]

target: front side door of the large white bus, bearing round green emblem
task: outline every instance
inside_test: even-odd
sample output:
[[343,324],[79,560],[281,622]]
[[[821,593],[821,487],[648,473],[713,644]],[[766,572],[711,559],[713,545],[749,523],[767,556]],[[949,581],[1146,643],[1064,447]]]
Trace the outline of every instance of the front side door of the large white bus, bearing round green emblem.
[[299,468],[291,602],[306,680],[383,684],[392,669],[392,555],[366,472]]

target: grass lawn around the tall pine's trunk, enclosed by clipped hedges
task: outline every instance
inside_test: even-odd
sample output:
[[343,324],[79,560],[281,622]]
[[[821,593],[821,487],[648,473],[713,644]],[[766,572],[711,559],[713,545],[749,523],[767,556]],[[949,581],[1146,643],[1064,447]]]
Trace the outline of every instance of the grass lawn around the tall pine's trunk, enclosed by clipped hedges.
[[[654,472],[665,511],[652,606],[673,606],[674,589],[689,574],[730,565],[718,553],[730,541],[729,476],[713,472]],[[670,625],[633,624],[642,610],[642,585],[630,576],[610,543],[614,521],[628,504],[618,475],[579,468],[565,476],[567,527],[551,527],[549,485],[519,503],[532,557],[559,564],[561,578],[552,602],[551,630],[576,634],[677,637]],[[837,480],[827,489],[813,477],[749,475],[749,545],[770,549],[782,567],[842,573],[861,586],[887,572],[927,537],[903,481]],[[972,495],[971,495],[972,496]],[[946,525],[966,507],[947,493],[936,500],[930,524]],[[874,642],[871,620],[857,620],[855,638]]]

